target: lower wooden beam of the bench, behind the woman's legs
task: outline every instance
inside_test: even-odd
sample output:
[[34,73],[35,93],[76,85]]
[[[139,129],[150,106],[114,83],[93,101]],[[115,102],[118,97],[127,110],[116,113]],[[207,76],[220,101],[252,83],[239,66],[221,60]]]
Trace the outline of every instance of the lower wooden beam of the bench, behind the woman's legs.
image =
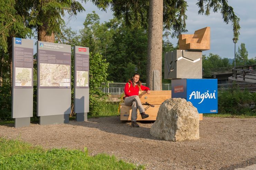
[[[145,113],[149,114],[149,117],[145,118],[145,119],[141,119],[141,115],[138,110],[137,111],[137,120],[156,120],[160,105],[154,105],[155,107],[146,106],[146,105],[143,105],[143,106],[145,109]],[[131,120],[131,115],[132,115],[132,107],[121,105],[120,120]]]

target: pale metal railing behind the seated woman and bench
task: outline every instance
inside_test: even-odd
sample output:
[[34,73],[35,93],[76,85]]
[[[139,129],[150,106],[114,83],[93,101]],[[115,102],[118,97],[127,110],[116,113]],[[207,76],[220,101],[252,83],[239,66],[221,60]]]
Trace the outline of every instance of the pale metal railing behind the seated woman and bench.
[[[101,90],[104,93],[110,94],[122,94],[124,92],[124,86],[126,83],[108,83],[108,87],[105,87],[105,83],[102,83]],[[146,83],[142,83],[146,86]],[[171,90],[171,84],[162,84],[162,90]]]

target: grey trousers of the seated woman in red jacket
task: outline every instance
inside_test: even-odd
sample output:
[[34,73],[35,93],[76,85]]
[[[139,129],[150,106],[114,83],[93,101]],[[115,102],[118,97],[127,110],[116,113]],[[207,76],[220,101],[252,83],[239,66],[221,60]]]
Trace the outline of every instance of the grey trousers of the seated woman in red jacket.
[[145,109],[141,104],[141,100],[140,100],[139,96],[135,95],[135,96],[126,97],[124,99],[124,105],[132,106],[131,121],[137,120],[137,110],[138,109],[139,109],[140,113],[145,112]]

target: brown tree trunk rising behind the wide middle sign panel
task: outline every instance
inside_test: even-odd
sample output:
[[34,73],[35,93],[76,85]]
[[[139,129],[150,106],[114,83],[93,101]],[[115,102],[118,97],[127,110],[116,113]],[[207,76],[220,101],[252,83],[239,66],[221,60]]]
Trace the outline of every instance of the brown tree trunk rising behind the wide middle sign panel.
[[51,32],[51,34],[47,34],[47,23],[44,23],[42,26],[38,26],[37,36],[38,41],[45,41],[45,42],[54,42],[55,41],[55,34]]

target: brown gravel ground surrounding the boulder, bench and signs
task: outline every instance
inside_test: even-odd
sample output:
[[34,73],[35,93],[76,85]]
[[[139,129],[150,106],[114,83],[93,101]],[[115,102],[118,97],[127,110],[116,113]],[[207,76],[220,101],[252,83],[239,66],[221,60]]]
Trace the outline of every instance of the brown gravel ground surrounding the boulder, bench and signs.
[[236,169],[256,163],[256,118],[203,118],[200,139],[172,142],[150,135],[153,122],[131,122],[120,117],[91,118],[85,122],[14,128],[0,126],[0,137],[20,139],[44,148],[81,149],[91,155],[114,154],[146,169]]

